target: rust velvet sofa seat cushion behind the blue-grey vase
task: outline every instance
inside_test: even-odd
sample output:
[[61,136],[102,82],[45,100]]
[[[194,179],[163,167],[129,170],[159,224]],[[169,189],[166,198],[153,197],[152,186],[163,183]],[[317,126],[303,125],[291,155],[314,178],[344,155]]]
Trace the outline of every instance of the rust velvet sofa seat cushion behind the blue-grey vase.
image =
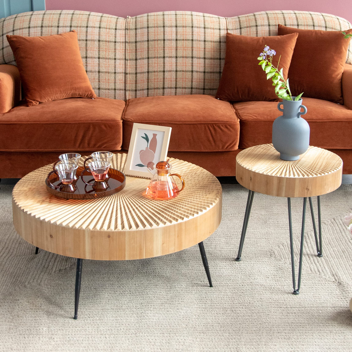
[[[325,149],[352,149],[352,110],[327,100],[302,100],[307,107],[307,114],[302,118],[310,127],[310,145]],[[240,119],[239,148],[271,143],[272,123],[282,114],[277,109],[277,102],[238,102],[233,106]]]

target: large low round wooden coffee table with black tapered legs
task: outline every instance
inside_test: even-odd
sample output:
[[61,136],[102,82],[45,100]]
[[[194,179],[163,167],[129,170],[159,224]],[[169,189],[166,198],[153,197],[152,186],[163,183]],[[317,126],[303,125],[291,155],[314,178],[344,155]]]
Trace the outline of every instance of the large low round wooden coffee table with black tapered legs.
[[[81,158],[83,165],[85,158]],[[115,154],[111,167],[124,172],[126,154]],[[77,258],[75,315],[77,319],[82,259],[142,259],[199,245],[212,286],[203,240],[221,221],[222,190],[210,172],[170,159],[182,175],[184,190],[174,199],[158,201],[144,195],[148,178],[126,176],[119,193],[99,199],[64,199],[46,190],[52,165],[23,177],[13,189],[13,222],[26,241],[40,249]],[[177,181],[176,181],[177,182]]]

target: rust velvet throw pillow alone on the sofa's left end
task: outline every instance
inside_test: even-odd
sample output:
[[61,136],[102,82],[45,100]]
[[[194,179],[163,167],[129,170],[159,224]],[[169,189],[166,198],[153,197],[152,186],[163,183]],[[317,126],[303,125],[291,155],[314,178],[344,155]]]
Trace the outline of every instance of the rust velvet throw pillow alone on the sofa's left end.
[[84,69],[77,33],[7,35],[27,106],[65,98],[96,98]]

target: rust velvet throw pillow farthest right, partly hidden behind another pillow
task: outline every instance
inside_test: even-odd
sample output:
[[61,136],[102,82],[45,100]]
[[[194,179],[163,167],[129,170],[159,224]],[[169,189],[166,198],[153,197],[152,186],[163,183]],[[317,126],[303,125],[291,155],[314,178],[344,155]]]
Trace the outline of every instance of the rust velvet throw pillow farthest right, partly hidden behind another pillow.
[[292,95],[304,92],[306,98],[342,104],[341,78],[350,39],[345,39],[339,31],[278,25],[278,35],[289,33],[298,33],[288,73]]

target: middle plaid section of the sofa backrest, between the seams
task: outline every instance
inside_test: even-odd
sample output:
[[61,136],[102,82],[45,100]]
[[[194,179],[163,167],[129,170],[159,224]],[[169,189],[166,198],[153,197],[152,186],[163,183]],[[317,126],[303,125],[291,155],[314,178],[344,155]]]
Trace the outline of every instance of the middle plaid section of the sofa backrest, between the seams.
[[225,59],[226,20],[197,12],[157,12],[126,22],[127,98],[210,94]]

